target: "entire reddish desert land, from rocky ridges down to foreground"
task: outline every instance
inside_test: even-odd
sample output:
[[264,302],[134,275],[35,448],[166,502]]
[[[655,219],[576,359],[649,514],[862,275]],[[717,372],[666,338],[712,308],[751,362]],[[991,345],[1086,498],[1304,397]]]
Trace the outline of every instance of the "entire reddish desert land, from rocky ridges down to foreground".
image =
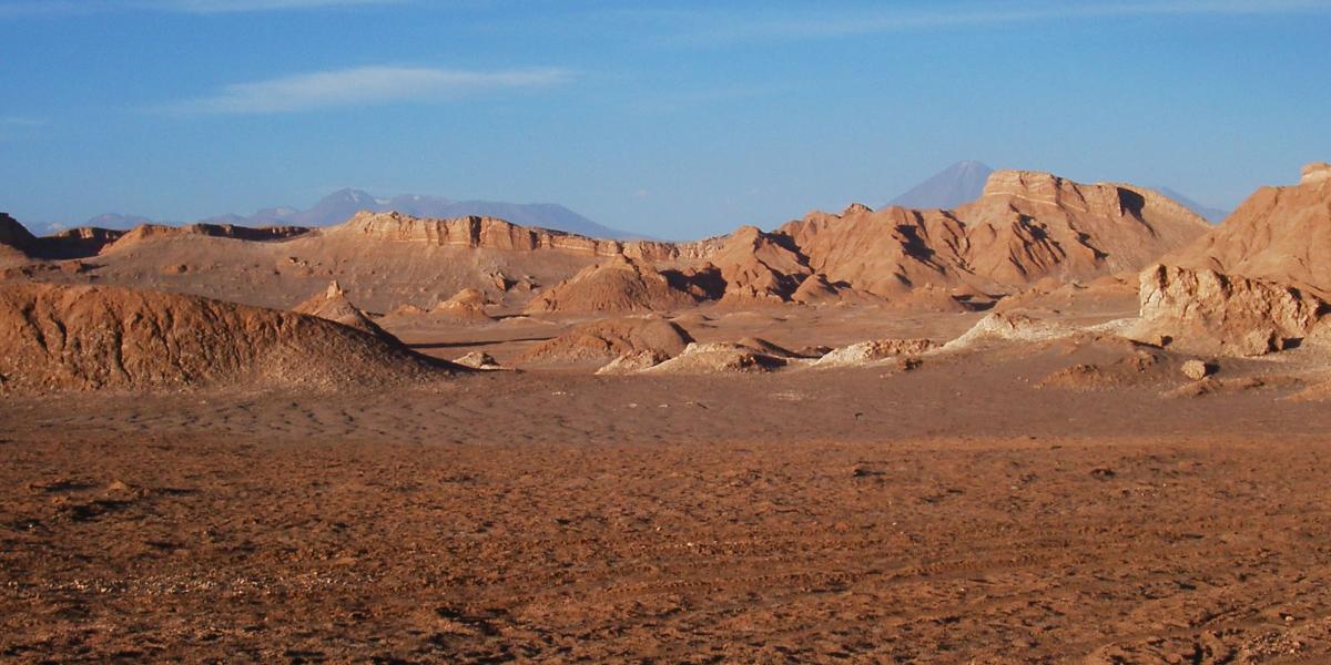
[[0,215],[0,657],[1331,658],[1331,165],[691,242]]

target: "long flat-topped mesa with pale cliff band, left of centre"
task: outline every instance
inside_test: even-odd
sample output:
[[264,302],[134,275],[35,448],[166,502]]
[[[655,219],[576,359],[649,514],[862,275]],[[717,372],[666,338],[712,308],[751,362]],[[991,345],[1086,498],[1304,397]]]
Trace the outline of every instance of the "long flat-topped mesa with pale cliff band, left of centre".
[[669,242],[588,238],[574,233],[518,226],[494,217],[455,217],[451,219],[425,219],[401,213],[361,211],[339,226],[326,231],[330,235],[357,234],[391,242],[422,242],[429,245],[470,249],[498,249],[510,251],[562,250],[594,257],[624,254],[647,261],[680,258],[679,249]]

